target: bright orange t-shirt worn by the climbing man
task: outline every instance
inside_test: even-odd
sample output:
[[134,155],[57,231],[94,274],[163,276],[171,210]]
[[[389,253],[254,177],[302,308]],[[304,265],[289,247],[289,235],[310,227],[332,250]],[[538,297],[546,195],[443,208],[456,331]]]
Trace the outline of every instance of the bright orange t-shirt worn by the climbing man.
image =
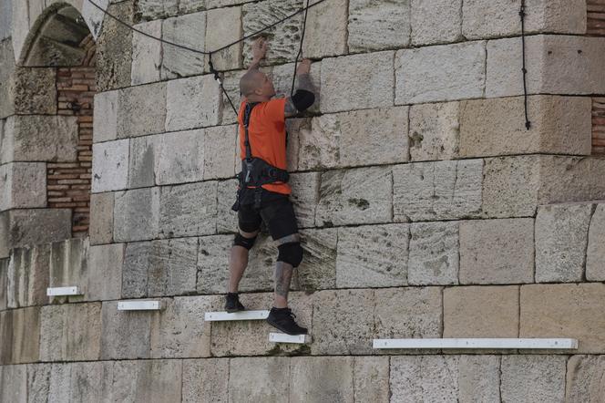
[[[252,109],[250,123],[248,125],[248,137],[252,157],[260,158],[272,166],[282,170],[288,169],[286,160],[286,98],[272,99],[261,102]],[[246,147],[244,145],[245,131],[243,128],[243,114],[246,102],[241,103],[239,119],[240,122],[240,156],[241,160],[246,158]],[[267,191],[275,191],[282,194],[290,194],[292,188],[288,183],[275,182],[262,185]]]

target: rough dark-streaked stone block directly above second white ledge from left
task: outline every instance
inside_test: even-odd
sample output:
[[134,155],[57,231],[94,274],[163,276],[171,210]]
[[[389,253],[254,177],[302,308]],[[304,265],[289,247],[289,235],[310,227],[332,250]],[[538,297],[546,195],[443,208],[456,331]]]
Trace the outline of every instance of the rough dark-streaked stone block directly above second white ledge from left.
[[196,238],[128,243],[122,268],[122,297],[194,293],[197,253]]

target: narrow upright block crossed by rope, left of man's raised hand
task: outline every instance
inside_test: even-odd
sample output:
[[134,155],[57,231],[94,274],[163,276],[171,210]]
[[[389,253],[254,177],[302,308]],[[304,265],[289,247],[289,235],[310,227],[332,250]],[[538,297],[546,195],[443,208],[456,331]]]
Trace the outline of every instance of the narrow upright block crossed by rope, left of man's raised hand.
[[[209,10],[206,28],[206,49],[213,51],[240,40],[241,7]],[[241,68],[241,42],[212,55],[214,68],[220,71]]]

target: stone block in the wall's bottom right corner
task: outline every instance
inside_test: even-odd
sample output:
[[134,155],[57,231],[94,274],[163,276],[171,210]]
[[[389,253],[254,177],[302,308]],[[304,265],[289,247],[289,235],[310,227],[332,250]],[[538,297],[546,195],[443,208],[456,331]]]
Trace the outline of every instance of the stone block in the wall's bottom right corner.
[[605,396],[605,356],[571,356],[567,365],[566,401],[598,403]]

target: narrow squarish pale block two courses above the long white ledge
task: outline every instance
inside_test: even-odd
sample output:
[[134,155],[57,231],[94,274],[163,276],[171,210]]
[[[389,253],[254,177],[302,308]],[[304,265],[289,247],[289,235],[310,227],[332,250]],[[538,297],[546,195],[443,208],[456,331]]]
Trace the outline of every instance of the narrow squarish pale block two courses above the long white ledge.
[[407,282],[413,285],[458,283],[458,222],[410,225]]

